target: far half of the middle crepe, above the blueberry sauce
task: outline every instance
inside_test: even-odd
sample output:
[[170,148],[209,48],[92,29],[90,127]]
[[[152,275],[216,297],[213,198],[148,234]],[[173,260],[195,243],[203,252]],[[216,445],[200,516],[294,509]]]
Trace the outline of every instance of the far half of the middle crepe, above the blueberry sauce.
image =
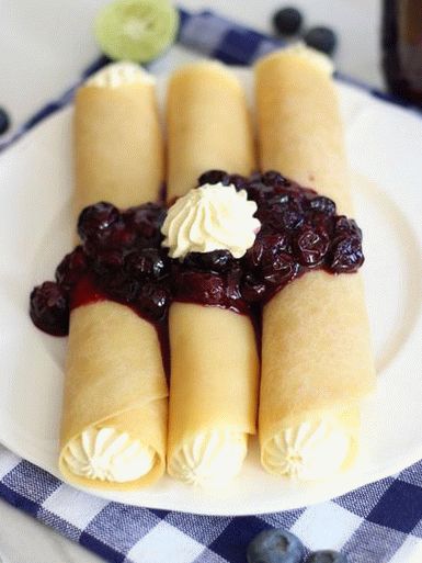
[[167,126],[169,201],[194,188],[206,170],[252,171],[253,138],[244,92],[220,63],[194,63],[173,74]]

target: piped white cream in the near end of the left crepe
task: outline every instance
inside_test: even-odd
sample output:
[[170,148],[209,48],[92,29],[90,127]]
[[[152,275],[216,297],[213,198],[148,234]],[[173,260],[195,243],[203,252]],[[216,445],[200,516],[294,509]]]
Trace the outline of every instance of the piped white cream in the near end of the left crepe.
[[155,451],[127,432],[93,428],[73,438],[66,448],[65,463],[76,475],[99,481],[126,483],[149,473]]

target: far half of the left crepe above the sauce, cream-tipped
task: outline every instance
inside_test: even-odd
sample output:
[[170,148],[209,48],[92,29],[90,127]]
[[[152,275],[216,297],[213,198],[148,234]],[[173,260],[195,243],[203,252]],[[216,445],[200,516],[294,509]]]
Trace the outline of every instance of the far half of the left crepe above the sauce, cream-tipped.
[[106,67],[100,71],[102,76],[99,72],[77,92],[77,214],[99,201],[129,207],[158,199],[164,153],[155,82],[140,67],[135,71],[132,65]]

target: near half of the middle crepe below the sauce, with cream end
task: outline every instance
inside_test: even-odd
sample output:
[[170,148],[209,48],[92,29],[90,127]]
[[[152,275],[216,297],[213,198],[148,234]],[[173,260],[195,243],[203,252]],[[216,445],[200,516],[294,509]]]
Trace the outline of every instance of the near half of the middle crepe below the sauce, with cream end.
[[218,485],[241,469],[255,433],[258,357],[244,315],[219,307],[170,307],[169,473]]

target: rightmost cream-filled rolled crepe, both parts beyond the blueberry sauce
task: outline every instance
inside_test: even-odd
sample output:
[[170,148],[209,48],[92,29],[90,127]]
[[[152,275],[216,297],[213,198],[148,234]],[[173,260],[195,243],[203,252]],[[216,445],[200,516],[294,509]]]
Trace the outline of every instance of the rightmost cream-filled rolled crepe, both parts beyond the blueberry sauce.
[[[260,164],[351,212],[347,166],[330,64],[306,48],[255,67]],[[354,460],[360,405],[375,370],[361,275],[313,271],[263,311],[261,461],[271,473],[326,477]]]

